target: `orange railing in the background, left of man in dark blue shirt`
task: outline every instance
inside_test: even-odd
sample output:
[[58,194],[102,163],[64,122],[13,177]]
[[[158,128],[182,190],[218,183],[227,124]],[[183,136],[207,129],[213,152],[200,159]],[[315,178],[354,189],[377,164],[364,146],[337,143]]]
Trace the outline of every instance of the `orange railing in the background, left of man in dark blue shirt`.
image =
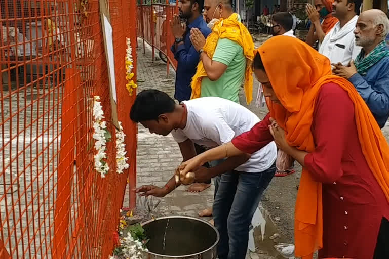
[[177,13],[175,3],[169,4],[157,2],[146,5],[141,2],[136,7],[137,12],[137,36],[143,39],[152,47],[152,60],[154,60],[155,49],[167,56],[167,72],[169,73],[169,65],[172,64],[176,69],[177,61],[174,59],[170,47],[174,43],[174,37],[171,33],[169,21],[172,20],[173,14]]

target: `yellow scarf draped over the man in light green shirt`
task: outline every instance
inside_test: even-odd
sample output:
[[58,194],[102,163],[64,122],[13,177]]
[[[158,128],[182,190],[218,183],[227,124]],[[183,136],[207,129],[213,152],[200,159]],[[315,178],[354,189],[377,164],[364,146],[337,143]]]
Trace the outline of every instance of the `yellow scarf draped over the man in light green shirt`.
[[[227,19],[220,19],[212,28],[211,34],[208,35],[204,45],[204,52],[212,58],[215,53],[217,41],[219,38],[228,38],[236,41],[243,48],[243,53],[247,59],[245,72],[245,94],[246,102],[249,104],[253,99],[253,72],[251,63],[254,59],[254,42],[247,28],[238,21],[238,14],[233,13]],[[201,94],[201,80],[206,77],[203,62],[200,60],[197,71],[192,79],[192,96],[190,99],[199,98]]]

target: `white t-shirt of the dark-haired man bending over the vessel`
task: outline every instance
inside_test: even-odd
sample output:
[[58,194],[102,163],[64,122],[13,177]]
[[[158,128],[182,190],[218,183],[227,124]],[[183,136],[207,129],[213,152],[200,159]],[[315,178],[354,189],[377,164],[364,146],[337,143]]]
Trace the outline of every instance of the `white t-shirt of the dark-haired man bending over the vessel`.
[[[183,103],[188,111],[186,126],[183,130],[172,131],[178,143],[190,139],[206,149],[214,148],[250,131],[260,121],[244,106],[219,97],[202,97]],[[271,142],[235,170],[261,172],[268,169],[276,158],[276,144]]]

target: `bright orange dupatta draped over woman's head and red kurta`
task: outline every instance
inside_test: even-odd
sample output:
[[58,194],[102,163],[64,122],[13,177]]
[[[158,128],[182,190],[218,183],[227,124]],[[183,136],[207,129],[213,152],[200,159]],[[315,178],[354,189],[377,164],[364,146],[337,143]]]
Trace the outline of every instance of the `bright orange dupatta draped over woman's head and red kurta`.
[[[320,88],[336,83],[354,103],[358,137],[363,154],[389,200],[389,146],[365,101],[346,79],[332,75],[330,61],[299,39],[277,36],[267,40],[259,53],[266,74],[282,106],[266,98],[272,117],[284,128],[291,146],[313,152],[311,132]],[[323,247],[322,184],[303,168],[295,207],[296,257],[311,259]]]

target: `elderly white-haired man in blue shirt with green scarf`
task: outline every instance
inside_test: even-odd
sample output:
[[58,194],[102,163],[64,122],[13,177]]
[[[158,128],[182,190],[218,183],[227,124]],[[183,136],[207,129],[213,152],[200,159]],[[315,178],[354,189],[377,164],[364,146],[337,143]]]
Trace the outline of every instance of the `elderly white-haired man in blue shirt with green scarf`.
[[348,66],[333,64],[334,74],[348,79],[365,100],[382,128],[389,117],[389,19],[378,9],[363,12],[354,30],[362,50]]

